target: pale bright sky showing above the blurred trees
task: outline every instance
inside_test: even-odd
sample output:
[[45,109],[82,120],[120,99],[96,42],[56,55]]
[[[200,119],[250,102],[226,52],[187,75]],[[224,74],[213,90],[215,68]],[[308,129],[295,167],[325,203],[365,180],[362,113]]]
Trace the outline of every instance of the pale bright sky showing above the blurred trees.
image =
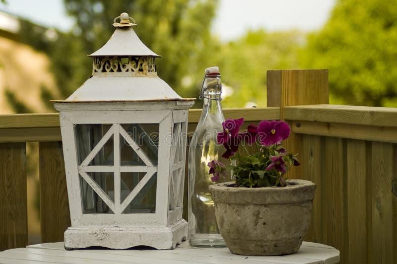
[[[221,40],[229,41],[242,36],[248,29],[316,30],[327,21],[335,1],[220,0],[212,32]],[[66,15],[63,0],[6,0],[6,2],[7,4],[0,2],[0,10],[28,18],[43,26],[67,31],[74,22]]]

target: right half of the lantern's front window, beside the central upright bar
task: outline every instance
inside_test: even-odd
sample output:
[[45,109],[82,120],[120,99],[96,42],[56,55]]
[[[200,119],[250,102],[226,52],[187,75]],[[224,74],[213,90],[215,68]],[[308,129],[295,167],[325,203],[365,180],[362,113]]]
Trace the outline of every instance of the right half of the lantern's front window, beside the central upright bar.
[[121,127],[127,133],[120,134],[120,192],[122,202],[128,200],[123,213],[154,213],[159,124],[122,124]]

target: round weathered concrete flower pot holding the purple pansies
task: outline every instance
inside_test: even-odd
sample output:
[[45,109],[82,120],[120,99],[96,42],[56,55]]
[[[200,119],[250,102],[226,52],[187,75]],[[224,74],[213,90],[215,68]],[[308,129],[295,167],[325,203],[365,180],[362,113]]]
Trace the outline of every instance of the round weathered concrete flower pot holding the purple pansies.
[[296,253],[311,221],[316,184],[287,180],[286,187],[210,186],[220,233],[234,254]]

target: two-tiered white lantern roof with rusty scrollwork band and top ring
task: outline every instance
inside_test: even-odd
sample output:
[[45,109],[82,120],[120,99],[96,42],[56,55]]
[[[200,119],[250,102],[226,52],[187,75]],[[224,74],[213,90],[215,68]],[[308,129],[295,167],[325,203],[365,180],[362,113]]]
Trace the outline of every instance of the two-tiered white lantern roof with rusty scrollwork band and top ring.
[[[120,23],[116,22],[120,18]],[[131,21],[130,21],[131,20]],[[77,102],[193,101],[183,99],[157,76],[155,58],[161,57],[147,48],[132,26],[135,20],[127,13],[116,17],[115,32],[93,57],[92,75],[66,100]]]

